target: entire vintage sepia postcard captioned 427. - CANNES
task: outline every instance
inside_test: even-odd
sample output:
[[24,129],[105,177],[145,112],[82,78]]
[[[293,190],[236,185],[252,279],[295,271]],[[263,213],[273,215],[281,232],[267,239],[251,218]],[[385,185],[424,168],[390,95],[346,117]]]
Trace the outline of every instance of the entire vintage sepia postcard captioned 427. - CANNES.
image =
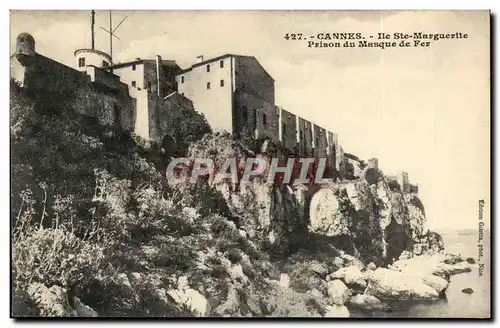
[[11,11],[11,316],[491,318],[489,11]]

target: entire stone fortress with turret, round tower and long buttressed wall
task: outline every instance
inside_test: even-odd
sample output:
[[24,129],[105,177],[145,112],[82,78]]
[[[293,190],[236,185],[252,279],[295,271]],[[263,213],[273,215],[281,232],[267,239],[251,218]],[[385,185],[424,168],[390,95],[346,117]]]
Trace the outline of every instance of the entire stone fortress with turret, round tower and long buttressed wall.
[[[76,110],[103,125],[160,143],[171,133],[167,113],[184,108],[202,113],[214,130],[281,143],[289,156],[326,158],[341,180],[360,177],[367,167],[378,169],[378,159],[344,152],[335,133],[277,106],[275,80],[253,56],[201,57],[187,69],[159,55],[113,63],[92,40],[91,48],[74,52],[73,68],[37,53],[35,44],[28,33],[17,37],[11,79],[34,97],[71,99]],[[403,192],[418,193],[406,172],[388,180]]]

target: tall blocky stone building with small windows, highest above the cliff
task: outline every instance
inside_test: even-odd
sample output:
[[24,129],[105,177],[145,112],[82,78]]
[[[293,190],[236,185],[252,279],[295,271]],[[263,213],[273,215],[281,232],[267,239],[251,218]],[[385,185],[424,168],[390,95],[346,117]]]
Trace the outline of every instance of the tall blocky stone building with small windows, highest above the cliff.
[[274,79],[255,57],[226,54],[181,71],[176,82],[214,130],[279,139]]

